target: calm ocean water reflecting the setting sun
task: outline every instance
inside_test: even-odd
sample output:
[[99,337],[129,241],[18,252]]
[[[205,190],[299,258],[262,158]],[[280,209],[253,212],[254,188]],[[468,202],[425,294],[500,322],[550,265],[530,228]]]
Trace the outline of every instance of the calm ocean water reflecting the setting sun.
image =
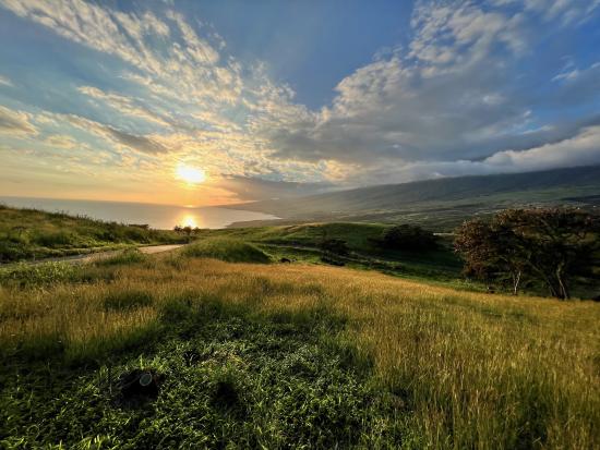
[[187,207],[133,202],[13,196],[0,196],[0,204],[16,208],[35,208],[49,212],[85,216],[108,222],[147,224],[158,230],[170,230],[176,226],[218,229],[235,222],[278,219],[278,217],[267,214],[229,209],[224,206]]

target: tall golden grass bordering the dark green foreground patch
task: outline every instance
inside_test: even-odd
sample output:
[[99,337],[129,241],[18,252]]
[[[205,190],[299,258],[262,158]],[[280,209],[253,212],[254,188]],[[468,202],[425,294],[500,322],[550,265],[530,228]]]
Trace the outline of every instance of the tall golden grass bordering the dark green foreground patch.
[[[110,292],[153,304],[107,311]],[[68,354],[152,327],[177,295],[256,311],[325,306],[397,397],[398,421],[423,448],[600,447],[600,305],[458,292],[375,272],[169,256],[118,269],[110,283],[0,291],[0,344],[52,339]]]

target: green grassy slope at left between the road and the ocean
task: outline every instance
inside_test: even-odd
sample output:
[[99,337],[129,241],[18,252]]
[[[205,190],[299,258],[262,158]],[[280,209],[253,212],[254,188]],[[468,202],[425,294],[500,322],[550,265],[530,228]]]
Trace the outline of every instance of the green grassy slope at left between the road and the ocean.
[[185,236],[173,231],[0,205],[0,263],[182,242]]

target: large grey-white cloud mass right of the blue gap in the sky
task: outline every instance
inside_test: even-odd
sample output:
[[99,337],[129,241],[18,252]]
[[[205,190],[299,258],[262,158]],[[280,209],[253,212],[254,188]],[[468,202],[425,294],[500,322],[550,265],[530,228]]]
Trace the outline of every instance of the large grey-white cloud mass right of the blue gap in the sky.
[[[556,3],[563,4],[562,12],[569,3],[578,20],[593,10]],[[352,181],[373,183],[384,181],[381,173],[395,180],[398,173],[403,180],[436,177],[432,168],[441,165],[478,171],[469,161],[507,148],[568,142],[590,118],[568,115],[567,108],[598,102],[600,65],[569,68],[554,76],[561,83],[541,89],[552,77],[532,78],[524,65],[544,38],[532,32],[531,13],[538,7],[419,2],[405,48],[341,80],[331,107],[265,131],[273,157],[359,165],[363,170],[358,175],[352,171]],[[544,21],[560,17],[543,14]],[[559,119],[542,122],[537,117],[542,109]],[[568,153],[563,163],[568,163]]]

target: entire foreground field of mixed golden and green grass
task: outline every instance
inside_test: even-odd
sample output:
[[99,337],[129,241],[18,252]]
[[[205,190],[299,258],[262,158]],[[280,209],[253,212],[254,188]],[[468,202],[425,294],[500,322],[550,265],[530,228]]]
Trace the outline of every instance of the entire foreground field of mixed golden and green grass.
[[0,447],[600,447],[596,303],[193,255],[0,277]]

